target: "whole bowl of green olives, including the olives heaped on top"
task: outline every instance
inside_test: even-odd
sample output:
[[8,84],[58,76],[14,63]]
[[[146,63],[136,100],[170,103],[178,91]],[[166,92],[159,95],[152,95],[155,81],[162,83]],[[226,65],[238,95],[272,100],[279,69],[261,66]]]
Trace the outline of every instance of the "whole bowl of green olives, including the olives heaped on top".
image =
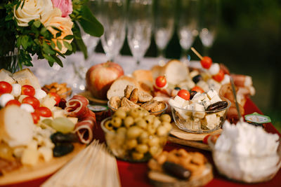
[[117,109],[100,125],[110,151],[129,162],[145,162],[161,153],[172,128],[168,114],[154,116],[142,107]]

